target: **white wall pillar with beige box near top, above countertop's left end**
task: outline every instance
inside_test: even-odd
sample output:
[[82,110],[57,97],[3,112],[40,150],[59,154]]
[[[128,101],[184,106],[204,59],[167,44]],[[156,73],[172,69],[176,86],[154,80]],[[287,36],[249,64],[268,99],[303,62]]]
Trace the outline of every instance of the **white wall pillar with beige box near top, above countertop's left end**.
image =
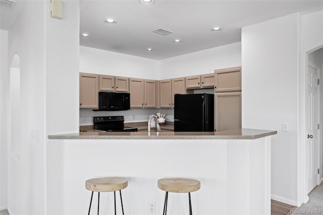
[[79,2],[63,7],[63,20],[45,17],[47,134],[79,131]]

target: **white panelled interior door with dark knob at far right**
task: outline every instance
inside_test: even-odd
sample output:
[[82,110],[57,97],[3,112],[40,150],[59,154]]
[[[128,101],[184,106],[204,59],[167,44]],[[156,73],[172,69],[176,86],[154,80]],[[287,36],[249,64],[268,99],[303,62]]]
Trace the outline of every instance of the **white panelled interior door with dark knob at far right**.
[[318,119],[319,119],[319,85],[318,69],[313,65],[307,66],[307,193],[318,182]]

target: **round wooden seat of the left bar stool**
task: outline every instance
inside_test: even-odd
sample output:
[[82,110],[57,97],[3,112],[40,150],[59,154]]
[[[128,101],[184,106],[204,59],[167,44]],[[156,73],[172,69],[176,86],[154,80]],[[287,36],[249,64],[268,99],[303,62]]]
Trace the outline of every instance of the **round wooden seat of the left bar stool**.
[[111,192],[122,190],[128,186],[128,180],[123,177],[106,177],[86,180],[85,187],[94,192]]

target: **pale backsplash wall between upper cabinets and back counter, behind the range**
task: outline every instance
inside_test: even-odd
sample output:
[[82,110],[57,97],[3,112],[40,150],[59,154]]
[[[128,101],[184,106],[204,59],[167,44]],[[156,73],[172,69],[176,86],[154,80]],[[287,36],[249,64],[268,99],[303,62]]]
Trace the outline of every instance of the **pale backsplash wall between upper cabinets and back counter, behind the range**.
[[92,111],[80,109],[80,125],[93,125],[93,117],[124,116],[125,123],[148,121],[150,115],[166,114],[165,119],[174,122],[174,109],[131,109],[128,111]]

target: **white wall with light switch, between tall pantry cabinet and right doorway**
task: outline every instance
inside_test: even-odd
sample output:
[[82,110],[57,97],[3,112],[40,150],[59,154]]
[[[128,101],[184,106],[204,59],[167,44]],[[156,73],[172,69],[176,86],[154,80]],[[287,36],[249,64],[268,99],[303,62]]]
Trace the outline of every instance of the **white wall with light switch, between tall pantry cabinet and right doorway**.
[[[298,18],[292,14],[242,28],[242,127],[278,131],[272,142],[272,197],[293,205],[297,202]],[[288,123],[288,132],[282,132],[282,123]]]

